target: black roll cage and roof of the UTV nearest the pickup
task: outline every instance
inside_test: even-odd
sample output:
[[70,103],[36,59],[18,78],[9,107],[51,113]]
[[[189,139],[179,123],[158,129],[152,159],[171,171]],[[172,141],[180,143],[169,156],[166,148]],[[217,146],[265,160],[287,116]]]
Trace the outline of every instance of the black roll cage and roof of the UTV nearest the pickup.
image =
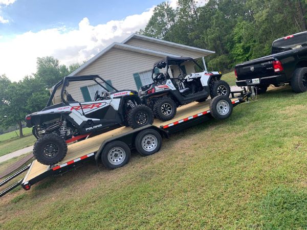
[[[169,65],[178,65],[180,68],[180,71],[183,72],[183,69],[181,68],[181,64],[186,61],[192,61],[196,66],[198,66],[202,72],[204,71],[203,67],[201,67],[193,58],[191,57],[170,57],[166,56],[161,61],[157,61],[155,64],[153,64],[152,72],[151,72],[151,78],[153,80],[153,74],[155,74],[155,68],[165,68],[166,67],[166,73],[168,74],[168,68]],[[186,74],[186,73],[185,73]]]

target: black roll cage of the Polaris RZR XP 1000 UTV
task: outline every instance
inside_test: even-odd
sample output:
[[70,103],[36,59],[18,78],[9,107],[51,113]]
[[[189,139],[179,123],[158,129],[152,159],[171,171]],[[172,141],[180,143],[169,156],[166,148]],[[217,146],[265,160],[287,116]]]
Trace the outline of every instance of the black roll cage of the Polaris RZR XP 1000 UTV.
[[114,91],[118,92],[118,90],[110,85],[109,83],[107,83],[105,80],[103,80],[103,78],[101,78],[99,75],[84,75],[84,76],[68,76],[68,77],[64,77],[63,80],[59,81],[58,83],[56,83],[54,86],[53,86],[53,89],[52,89],[52,93],[49,97],[49,100],[47,102],[47,105],[46,107],[50,106],[51,102],[52,102],[52,99],[55,95],[55,92],[56,90],[59,88],[60,85],[62,85],[62,88],[61,88],[61,100],[64,104],[67,104],[67,101],[64,99],[63,97],[63,93],[64,93],[64,89],[65,87],[69,86],[69,82],[72,82],[72,81],[95,81],[99,86],[101,86],[103,89],[105,89],[107,92],[109,92],[109,90],[104,87],[101,83],[99,83],[96,78],[99,78],[101,81],[103,81],[103,83],[105,83],[107,86],[111,87],[114,89]]

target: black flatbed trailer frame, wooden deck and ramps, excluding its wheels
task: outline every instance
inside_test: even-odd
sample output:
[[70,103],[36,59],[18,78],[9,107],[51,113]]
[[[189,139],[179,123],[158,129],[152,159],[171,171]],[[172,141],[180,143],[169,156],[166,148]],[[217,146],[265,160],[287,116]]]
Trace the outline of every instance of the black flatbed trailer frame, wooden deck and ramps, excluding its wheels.
[[[240,96],[235,97],[235,94]],[[231,101],[233,106],[247,101],[249,94],[246,90],[231,92]],[[181,131],[191,126],[203,123],[212,118],[210,115],[209,104],[211,100],[202,103],[193,102],[178,108],[176,117],[170,121],[162,122],[155,119],[152,125],[143,126],[138,129],[131,129],[130,127],[120,127],[111,131],[104,132],[89,139],[72,143],[68,145],[68,153],[66,157],[56,165],[47,166],[42,165],[37,160],[20,169],[15,174],[0,182],[0,187],[5,183],[28,170],[24,179],[14,183],[9,188],[0,192],[0,197],[10,192],[14,188],[21,186],[25,190],[29,190],[38,181],[49,177],[63,174],[67,171],[75,169],[82,165],[83,162],[91,159],[96,159],[99,162],[100,154],[107,143],[113,141],[122,141],[126,143],[130,149],[134,148],[134,140],[136,135],[142,130],[154,129],[158,131],[161,136],[168,137],[169,134]]]

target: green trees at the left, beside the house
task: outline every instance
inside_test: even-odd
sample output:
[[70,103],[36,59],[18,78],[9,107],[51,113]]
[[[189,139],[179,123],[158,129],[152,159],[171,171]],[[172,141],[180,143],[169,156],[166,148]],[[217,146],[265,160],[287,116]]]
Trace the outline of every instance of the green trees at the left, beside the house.
[[37,58],[36,73],[12,82],[0,75],[0,128],[17,125],[23,137],[23,123],[27,114],[46,106],[49,89],[63,77],[75,71],[80,64],[60,65],[54,57]]

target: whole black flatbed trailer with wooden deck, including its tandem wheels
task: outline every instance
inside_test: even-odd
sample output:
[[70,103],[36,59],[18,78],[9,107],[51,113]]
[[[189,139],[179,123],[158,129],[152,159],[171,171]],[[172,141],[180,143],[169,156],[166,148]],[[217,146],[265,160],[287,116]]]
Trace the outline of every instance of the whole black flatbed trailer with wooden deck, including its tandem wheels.
[[[235,93],[240,93],[240,97],[234,97]],[[248,97],[249,94],[244,94],[244,91],[232,92],[232,98],[230,99],[232,106],[245,102],[248,100]],[[30,165],[4,180],[5,182],[2,181],[0,186],[18,176],[21,171],[24,172],[29,169],[23,180],[2,191],[0,197],[19,185],[25,190],[29,190],[31,186],[43,178],[72,170],[81,166],[86,160],[96,159],[98,163],[101,159],[104,166],[112,169],[121,167],[128,162],[130,149],[136,148],[141,155],[151,155],[159,151],[162,140],[161,136],[167,137],[171,133],[210,120],[212,116],[209,104],[210,101],[190,103],[181,106],[178,109],[177,116],[170,121],[162,122],[156,119],[152,125],[138,129],[120,127],[90,139],[72,143],[68,145],[67,156],[58,164],[47,166],[34,160]],[[138,140],[140,140],[140,144],[137,143]],[[105,152],[106,150],[107,152]],[[124,158],[124,156],[127,158]],[[114,164],[108,165],[104,162],[104,159],[105,162],[113,162]],[[126,162],[123,162],[123,160],[126,160]]]

